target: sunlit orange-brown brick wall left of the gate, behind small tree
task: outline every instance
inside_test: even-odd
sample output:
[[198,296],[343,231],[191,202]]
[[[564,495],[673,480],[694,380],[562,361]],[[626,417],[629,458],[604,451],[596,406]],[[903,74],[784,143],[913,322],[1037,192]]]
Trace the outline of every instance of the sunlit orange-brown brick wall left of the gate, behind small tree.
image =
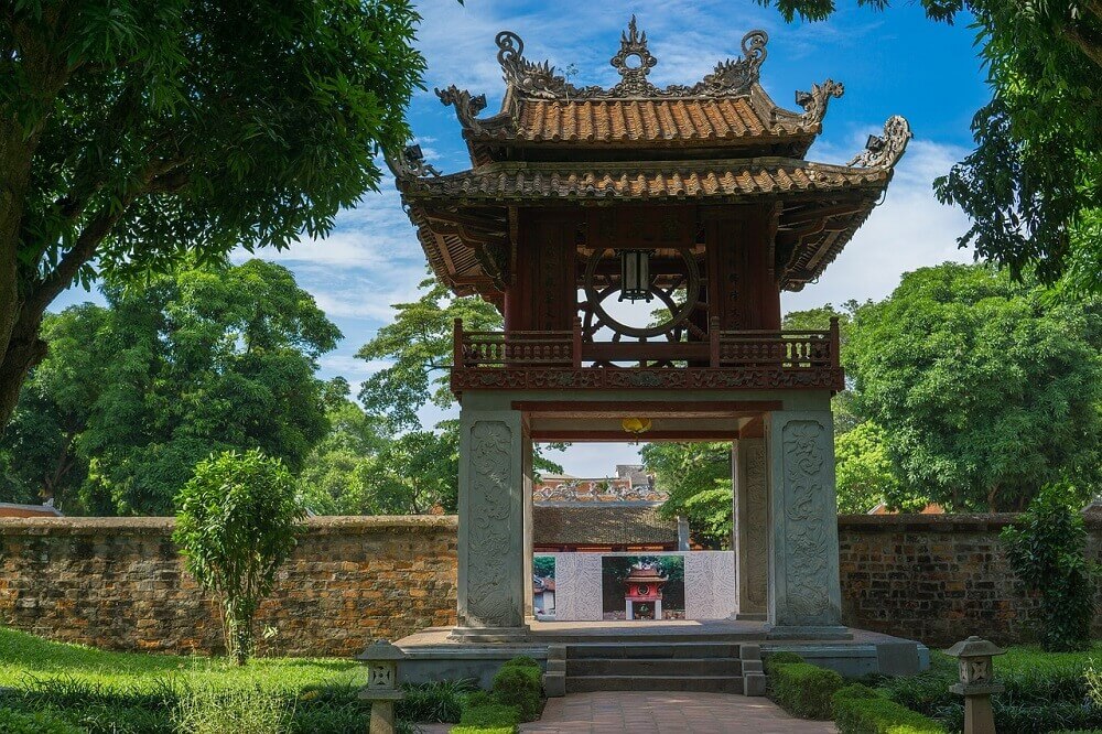
[[[222,648],[218,607],[183,570],[171,518],[0,519],[0,623],[115,649]],[[455,624],[451,517],[312,518],[258,629],[283,655],[349,656]]]

